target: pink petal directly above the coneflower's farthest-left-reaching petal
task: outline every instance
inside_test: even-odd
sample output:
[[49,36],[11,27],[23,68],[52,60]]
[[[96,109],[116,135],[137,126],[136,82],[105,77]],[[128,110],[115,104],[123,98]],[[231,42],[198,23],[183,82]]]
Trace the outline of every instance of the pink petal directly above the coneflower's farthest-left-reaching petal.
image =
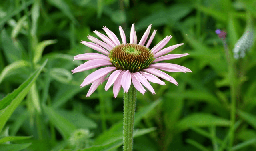
[[103,54],[93,53],[93,52],[74,56],[74,60],[92,60],[92,59],[104,59],[104,60],[110,61],[110,59],[107,56]]

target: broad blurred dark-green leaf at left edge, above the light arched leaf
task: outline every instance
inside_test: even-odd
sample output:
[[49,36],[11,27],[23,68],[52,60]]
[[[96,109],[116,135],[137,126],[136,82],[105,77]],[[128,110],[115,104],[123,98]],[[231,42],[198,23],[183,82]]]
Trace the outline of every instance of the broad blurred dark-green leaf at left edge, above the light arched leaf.
[[20,49],[14,44],[12,38],[10,38],[5,29],[3,29],[1,32],[1,42],[4,54],[9,63],[21,59]]

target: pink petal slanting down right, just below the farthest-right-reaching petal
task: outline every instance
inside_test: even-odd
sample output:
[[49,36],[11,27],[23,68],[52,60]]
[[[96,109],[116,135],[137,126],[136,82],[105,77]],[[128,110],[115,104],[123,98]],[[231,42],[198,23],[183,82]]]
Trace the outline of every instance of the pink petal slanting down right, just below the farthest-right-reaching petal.
[[146,68],[143,69],[144,72],[148,72],[150,74],[156,75],[158,77],[161,77],[171,83],[174,83],[175,85],[178,85],[178,82],[171,76],[169,76],[168,74],[166,74],[165,72],[162,72],[161,70],[157,70],[154,68]]

